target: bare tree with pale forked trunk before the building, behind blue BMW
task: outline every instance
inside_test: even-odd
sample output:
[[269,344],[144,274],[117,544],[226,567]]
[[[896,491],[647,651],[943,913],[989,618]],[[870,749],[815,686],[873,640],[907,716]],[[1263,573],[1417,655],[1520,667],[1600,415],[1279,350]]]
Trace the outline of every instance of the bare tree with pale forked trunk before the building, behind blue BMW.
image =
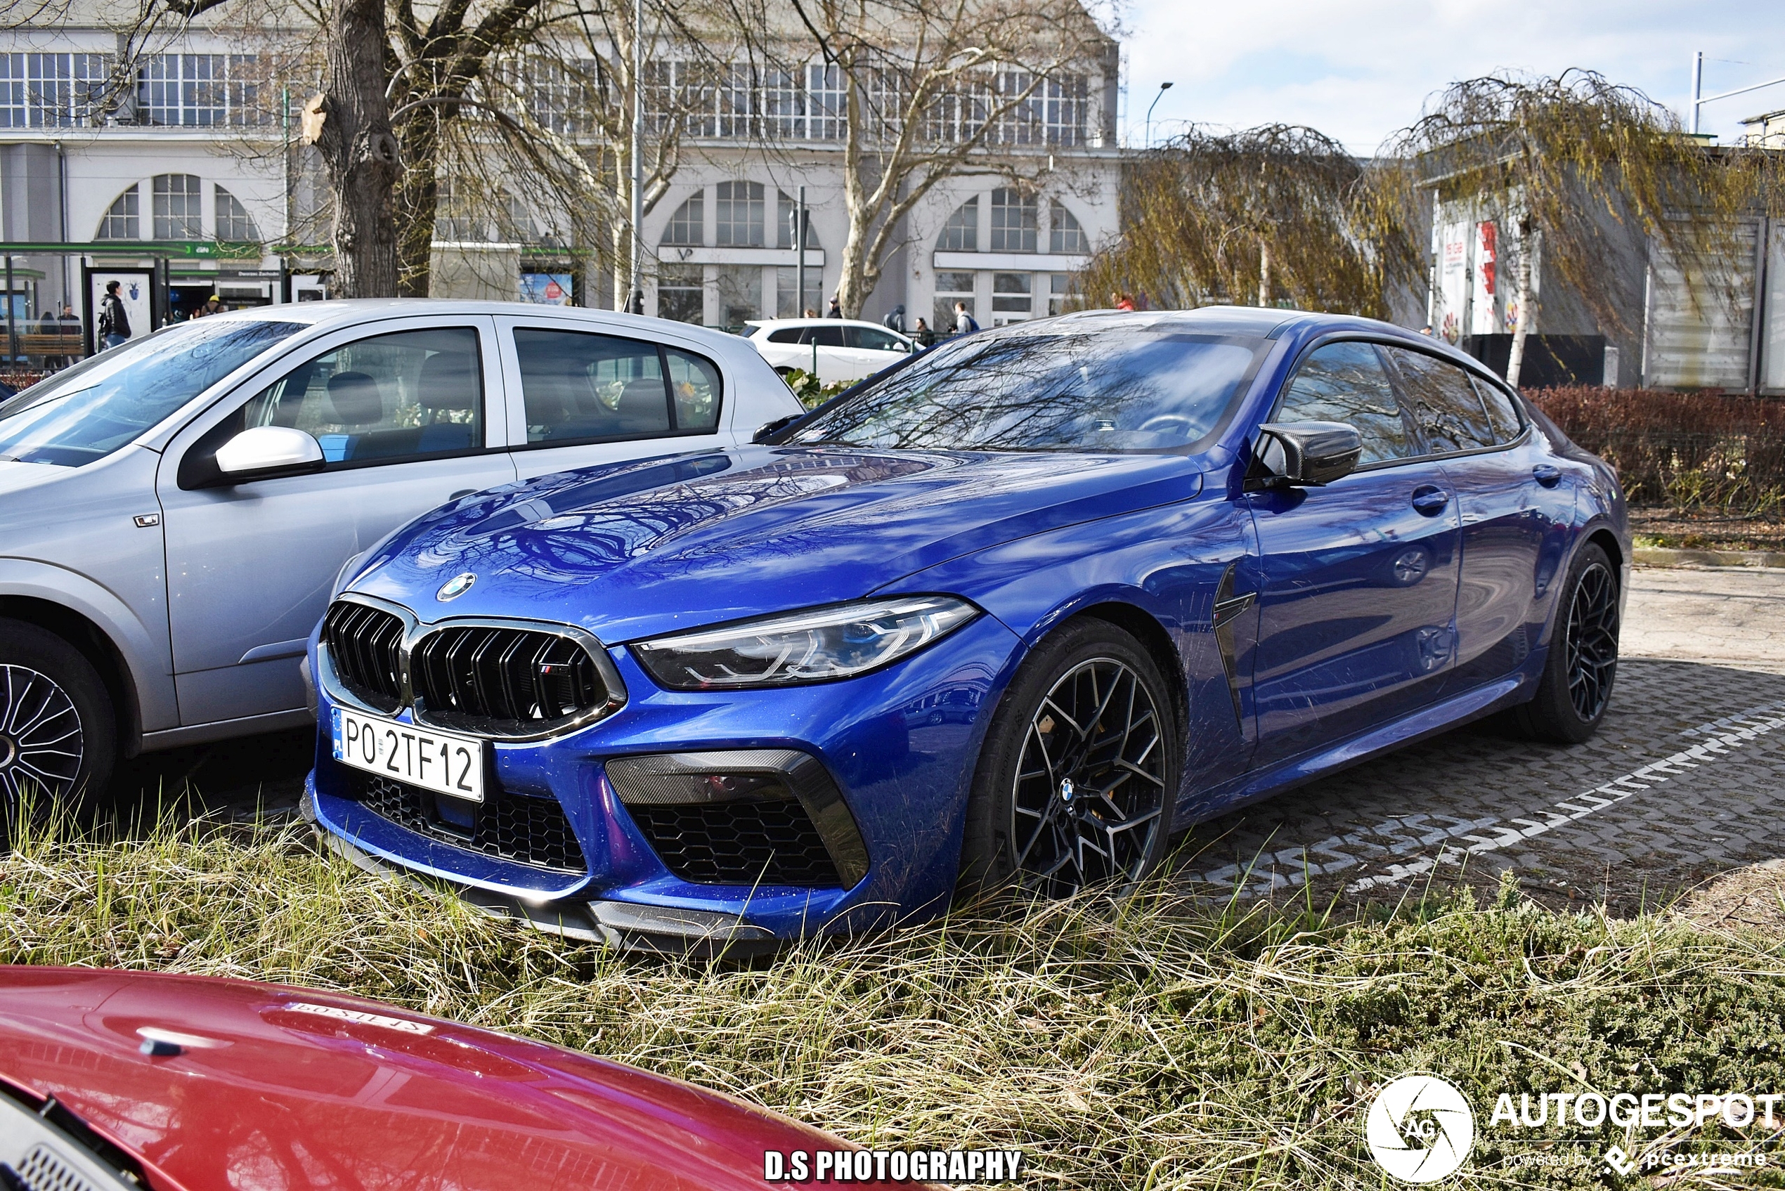
[[[850,318],[875,291],[905,216],[944,179],[1021,173],[998,152],[1046,152],[1042,104],[1105,57],[1108,37],[1078,0],[787,0],[741,25],[782,70],[816,41],[843,141],[848,236],[837,302]],[[791,52],[789,46],[798,46]],[[789,62],[789,59],[793,59]],[[1071,75],[1071,77],[1069,77]]]

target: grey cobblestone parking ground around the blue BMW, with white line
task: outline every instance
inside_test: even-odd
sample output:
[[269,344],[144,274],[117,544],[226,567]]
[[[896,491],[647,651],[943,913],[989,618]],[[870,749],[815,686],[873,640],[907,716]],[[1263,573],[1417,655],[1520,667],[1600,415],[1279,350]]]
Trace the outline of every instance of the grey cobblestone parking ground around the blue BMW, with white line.
[[[1612,709],[1573,748],[1474,725],[1196,827],[1198,896],[1392,902],[1514,868],[1551,904],[1628,912],[1785,857],[1785,570],[1639,570]],[[152,754],[125,805],[237,814],[296,804],[309,732]]]

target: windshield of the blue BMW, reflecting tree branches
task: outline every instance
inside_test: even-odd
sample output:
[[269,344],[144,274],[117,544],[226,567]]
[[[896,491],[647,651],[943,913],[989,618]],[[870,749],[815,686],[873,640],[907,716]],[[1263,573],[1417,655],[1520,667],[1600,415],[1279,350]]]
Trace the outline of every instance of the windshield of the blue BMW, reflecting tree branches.
[[969,336],[812,416],[789,443],[1167,452],[1221,425],[1262,339],[1169,330]]

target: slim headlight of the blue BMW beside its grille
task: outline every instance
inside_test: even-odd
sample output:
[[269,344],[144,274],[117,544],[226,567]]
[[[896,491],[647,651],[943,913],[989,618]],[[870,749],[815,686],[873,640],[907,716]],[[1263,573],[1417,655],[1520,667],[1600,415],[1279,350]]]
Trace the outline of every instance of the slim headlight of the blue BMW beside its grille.
[[921,650],[980,614],[953,596],[834,604],[632,646],[673,691],[853,679]]

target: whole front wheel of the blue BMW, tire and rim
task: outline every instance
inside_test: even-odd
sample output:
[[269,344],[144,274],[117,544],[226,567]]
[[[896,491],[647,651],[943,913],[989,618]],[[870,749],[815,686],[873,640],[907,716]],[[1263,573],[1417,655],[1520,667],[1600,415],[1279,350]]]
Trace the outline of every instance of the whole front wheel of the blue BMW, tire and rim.
[[985,732],[962,893],[1017,884],[1062,898],[1146,877],[1171,839],[1182,757],[1146,648],[1107,621],[1069,621],[1023,662]]

